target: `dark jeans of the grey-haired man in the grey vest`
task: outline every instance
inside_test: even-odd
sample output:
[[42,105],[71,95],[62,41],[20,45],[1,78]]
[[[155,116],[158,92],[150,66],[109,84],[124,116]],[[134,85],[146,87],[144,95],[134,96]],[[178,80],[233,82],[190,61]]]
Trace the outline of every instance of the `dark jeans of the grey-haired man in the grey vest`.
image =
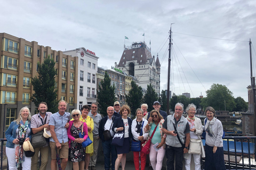
[[183,168],[183,148],[176,148],[165,145],[165,155],[167,158],[167,170],[174,170],[174,156],[175,156],[175,170],[182,170]]

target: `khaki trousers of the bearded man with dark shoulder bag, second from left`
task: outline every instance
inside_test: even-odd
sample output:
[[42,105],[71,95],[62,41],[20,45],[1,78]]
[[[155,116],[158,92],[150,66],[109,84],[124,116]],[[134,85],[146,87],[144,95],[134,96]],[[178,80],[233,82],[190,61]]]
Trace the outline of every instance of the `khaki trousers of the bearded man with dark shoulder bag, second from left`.
[[39,170],[45,170],[49,157],[49,146],[34,148],[35,155],[31,159],[31,169],[37,169],[38,153],[41,155],[41,166]]

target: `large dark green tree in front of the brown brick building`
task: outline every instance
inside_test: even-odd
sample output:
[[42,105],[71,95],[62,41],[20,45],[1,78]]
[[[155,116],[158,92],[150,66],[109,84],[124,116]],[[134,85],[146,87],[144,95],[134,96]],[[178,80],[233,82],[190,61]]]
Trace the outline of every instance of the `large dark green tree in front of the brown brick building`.
[[55,89],[55,62],[53,59],[48,58],[44,63],[38,63],[38,78],[32,78],[31,84],[35,93],[31,96],[30,100],[38,106],[42,101],[47,103],[48,110],[52,113],[58,111],[57,89]]

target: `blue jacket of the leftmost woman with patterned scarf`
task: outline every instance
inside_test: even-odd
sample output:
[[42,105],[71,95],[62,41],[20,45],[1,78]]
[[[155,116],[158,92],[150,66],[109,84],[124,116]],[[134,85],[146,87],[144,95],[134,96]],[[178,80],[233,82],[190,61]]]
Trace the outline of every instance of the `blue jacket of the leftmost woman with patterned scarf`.
[[[6,142],[6,147],[8,148],[14,148],[14,143],[12,142],[14,139],[16,139],[17,134],[16,134],[16,130],[19,128],[20,124],[17,124],[17,122],[13,121],[9,128],[7,129],[7,131],[5,132],[5,137],[7,139]],[[30,121],[28,123],[28,128],[30,129]],[[26,138],[29,138],[31,141],[31,129],[30,132],[28,134],[26,134]]]

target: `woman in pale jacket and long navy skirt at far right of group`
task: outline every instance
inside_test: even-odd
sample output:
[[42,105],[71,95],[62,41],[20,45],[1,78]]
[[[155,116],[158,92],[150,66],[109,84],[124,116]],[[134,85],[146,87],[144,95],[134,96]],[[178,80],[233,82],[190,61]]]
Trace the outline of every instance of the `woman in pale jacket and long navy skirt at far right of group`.
[[[212,107],[205,109],[205,169],[226,169],[223,156],[223,127],[221,122],[214,117],[215,110]],[[204,121],[205,122],[205,121]]]

